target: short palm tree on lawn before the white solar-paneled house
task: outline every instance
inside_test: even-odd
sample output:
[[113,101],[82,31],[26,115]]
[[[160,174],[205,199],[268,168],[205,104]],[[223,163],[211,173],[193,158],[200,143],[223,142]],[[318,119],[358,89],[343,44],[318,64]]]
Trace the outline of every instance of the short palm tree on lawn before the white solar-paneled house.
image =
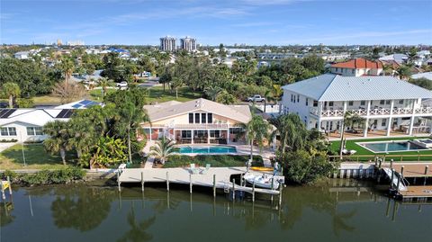
[[43,126],[43,133],[49,136],[43,141],[43,146],[49,153],[60,153],[63,165],[66,165],[66,151],[70,150],[68,123],[65,121],[50,121]]

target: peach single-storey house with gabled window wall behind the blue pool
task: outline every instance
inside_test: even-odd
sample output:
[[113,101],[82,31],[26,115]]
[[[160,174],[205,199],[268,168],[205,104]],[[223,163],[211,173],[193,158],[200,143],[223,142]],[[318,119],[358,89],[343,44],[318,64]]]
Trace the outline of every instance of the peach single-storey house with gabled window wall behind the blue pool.
[[229,144],[238,142],[239,123],[247,123],[247,105],[224,105],[203,98],[180,103],[146,105],[150,123],[141,127],[149,140],[173,139],[177,144]]

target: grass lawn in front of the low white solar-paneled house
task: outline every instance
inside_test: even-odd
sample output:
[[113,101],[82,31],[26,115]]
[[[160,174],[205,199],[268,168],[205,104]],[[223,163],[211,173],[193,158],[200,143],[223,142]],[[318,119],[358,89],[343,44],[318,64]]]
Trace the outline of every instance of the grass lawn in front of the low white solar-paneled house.
[[[24,145],[25,162],[23,166],[23,150],[21,144],[14,145],[0,153],[0,169],[56,169],[63,167],[59,155],[52,156],[45,151],[41,144]],[[76,156],[72,152],[67,152],[67,161],[74,163],[72,160]]]

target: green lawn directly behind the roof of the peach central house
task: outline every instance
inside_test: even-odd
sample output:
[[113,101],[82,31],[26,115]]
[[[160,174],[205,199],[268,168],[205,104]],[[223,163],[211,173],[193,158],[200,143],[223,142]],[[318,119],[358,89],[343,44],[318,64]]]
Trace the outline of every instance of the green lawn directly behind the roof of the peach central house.
[[153,86],[148,89],[148,93],[148,101],[150,103],[164,103],[173,100],[178,102],[186,102],[202,97],[202,93],[198,91],[193,93],[192,89],[187,86],[178,89],[178,99],[175,98],[175,91],[171,92],[167,86],[165,92],[163,86]]

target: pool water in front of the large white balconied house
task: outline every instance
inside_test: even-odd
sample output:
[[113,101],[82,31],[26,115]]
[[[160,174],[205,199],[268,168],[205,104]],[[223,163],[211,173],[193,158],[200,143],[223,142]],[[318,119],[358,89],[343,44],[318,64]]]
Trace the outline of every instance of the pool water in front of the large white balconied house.
[[367,143],[361,143],[360,145],[372,150],[375,153],[428,149],[416,145],[410,141],[367,142]]

